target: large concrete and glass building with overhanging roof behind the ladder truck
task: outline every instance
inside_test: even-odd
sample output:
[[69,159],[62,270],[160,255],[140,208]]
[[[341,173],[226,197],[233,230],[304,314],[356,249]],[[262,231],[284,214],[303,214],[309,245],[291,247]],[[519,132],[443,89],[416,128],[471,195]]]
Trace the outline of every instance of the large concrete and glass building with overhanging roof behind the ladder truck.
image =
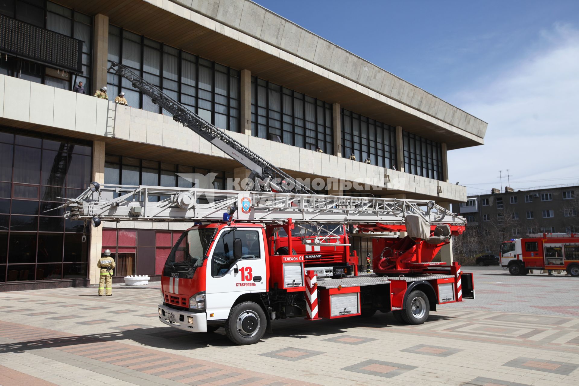
[[[224,188],[246,175],[107,73],[109,61],[295,177],[375,181],[377,189],[356,193],[448,208],[466,200],[463,186],[448,183],[446,152],[481,145],[485,122],[254,2],[6,0],[0,18],[10,26],[0,32],[5,288],[94,283],[103,248],[119,277],[160,274],[186,223],[88,230],[45,212],[90,181],[192,186],[176,173],[214,172]],[[85,94],[71,91],[79,81]],[[105,85],[109,100],[94,98]],[[128,107],[112,102],[120,91]],[[449,248],[443,259],[452,259]]]

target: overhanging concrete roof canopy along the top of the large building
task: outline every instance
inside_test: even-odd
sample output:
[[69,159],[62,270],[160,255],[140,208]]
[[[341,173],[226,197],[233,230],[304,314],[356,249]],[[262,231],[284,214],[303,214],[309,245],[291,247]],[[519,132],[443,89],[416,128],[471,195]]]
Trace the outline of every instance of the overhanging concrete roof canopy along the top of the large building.
[[[448,149],[487,124],[248,0],[56,0],[111,24],[281,84]],[[185,8],[186,7],[186,8]]]

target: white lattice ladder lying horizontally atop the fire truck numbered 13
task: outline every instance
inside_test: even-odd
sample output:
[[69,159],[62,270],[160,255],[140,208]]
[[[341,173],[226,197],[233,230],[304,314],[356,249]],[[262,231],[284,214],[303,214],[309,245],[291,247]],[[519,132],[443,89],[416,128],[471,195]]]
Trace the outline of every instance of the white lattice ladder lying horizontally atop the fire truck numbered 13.
[[[249,205],[248,205],[249,203]],[[417,214],[431,225],[466,225],[463,217],[426,200],[401,200],[238,190],[100,185],[67,199],[65,217],[102,221],[218,221],[231,207],[233,218],[256,223],[404,223]]]

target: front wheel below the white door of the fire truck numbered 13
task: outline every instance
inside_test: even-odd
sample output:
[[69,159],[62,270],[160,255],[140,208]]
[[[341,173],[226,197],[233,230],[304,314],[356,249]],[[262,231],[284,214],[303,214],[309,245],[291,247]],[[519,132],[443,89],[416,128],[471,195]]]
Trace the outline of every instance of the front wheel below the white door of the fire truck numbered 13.
[[265,333],[267,319],[262,308],[254,302],[243,302],[231,309],[225,321],[225,332],[235,344],[254,344]]

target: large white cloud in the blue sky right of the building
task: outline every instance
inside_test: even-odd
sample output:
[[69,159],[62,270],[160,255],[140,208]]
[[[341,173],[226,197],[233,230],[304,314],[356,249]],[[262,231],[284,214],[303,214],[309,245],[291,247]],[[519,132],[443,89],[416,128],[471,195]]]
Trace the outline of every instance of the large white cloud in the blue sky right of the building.
[[509,169],[515,189],[579,184],[579,30],[555,24],[534,46],[492,82],[453,98],[489,126],[485,145],[448,153],[451,182],[490,192]]

